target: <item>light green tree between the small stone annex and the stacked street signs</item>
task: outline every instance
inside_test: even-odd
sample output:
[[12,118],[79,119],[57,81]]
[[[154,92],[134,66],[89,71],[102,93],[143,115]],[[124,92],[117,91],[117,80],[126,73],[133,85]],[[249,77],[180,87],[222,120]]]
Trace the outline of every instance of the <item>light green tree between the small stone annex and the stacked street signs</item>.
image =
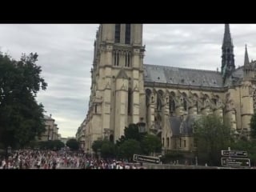
[[216,115],[202,116],[194,122],[194,139],[197,142],[199,162],[219,166],[221,150],[226,150],[232,142],[230,126],[225,125]]

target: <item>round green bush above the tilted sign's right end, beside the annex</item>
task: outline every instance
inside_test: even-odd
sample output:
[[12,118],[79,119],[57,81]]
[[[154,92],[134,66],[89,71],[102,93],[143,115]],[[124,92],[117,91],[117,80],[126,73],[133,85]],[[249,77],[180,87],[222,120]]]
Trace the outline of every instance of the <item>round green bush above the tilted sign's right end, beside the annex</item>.
[[142,150],[144,154],[149,155],[150,153],[161,152],[162,142],[160,138],[155,135],[147,134],[142,139]]

